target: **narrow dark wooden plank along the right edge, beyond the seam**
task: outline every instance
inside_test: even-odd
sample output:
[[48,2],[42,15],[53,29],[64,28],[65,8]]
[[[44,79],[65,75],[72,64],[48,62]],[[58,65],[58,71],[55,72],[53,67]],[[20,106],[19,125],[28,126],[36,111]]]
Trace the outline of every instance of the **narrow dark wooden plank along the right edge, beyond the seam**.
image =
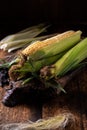
[[87,69],[78,77],[78,89],[80,93],[82,129],[87,130]]

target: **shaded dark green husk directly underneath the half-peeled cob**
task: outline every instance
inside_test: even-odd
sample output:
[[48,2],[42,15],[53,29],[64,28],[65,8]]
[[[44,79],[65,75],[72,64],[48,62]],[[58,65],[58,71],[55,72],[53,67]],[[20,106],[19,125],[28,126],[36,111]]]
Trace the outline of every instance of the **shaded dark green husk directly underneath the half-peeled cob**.
[[18,67],[16,68],[16,70],[13,69],[13,71],[9,71],[10,77],[11,77],[11,73],[12,74],[15,73],[17,79],[24,78],[28,73],[31,73],[31,74],[37,73],[42,67],[55,63],[64,54],[65,52],[60,53],[59,55],[55,55],[55,56],[38,60],[38,61],[30,61],[30,60],[26,61],[24,65],[21,66],[20,68]]

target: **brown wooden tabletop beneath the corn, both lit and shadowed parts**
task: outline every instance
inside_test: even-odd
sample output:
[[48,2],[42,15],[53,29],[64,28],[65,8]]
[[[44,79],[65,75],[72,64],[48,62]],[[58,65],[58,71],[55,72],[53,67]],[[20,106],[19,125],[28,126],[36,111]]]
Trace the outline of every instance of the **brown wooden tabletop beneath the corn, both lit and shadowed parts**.
[[[0,51],[0,58],[6,55]],[[67,94],[61,93],[55,99],[43,104],[42,110],[38,105],[19,105],[13,108],[5,107],[2,98],[5,93],[0,88],[0,124],[12,122],[26,122],[70,112],[78,120],[75,130],[87,130],[87,69],[76,75],[65,87]],[[37,102],[38,104],[38,102]]]

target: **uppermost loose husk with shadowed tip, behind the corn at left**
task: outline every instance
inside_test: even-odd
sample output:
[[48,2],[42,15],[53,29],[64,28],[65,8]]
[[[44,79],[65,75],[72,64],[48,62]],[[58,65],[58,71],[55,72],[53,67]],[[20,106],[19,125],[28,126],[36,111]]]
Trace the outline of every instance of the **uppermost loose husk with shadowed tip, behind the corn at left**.
[[5,38],[3,38],[0,41],[0,45],[2,45],[4,43],[15,41],[15,40],[22,40],[22,39],[36,37],[37,35],[40,34],[40,32],[43,32],[43,30],[45,30],[45,29],[46,28],[44,28],[44,24],[39,24],[37,26],[32,26],[32,27],[26,28],[18,33],[6,36]]

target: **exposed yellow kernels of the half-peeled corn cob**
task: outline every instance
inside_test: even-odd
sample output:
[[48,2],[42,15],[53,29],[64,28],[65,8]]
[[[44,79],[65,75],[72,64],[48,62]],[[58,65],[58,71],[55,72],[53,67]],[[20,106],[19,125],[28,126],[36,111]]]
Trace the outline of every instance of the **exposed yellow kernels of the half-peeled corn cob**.
[[43,49],[45,46],[54,44],[56,42],[58,43],[59,41],[70,37],[74,33],[75,33],[75,31],[67,31],[67,32],[64,32],[62,34],[58,34],[54,37],[48,38],[48,39],[43,40],[43,41],[36,41],[33,44],[29,45],[27,48],[25,48],[22,51],[22,53],[23,53],[23,55],[29,56],[29,55],[35,53],[37,50]]

